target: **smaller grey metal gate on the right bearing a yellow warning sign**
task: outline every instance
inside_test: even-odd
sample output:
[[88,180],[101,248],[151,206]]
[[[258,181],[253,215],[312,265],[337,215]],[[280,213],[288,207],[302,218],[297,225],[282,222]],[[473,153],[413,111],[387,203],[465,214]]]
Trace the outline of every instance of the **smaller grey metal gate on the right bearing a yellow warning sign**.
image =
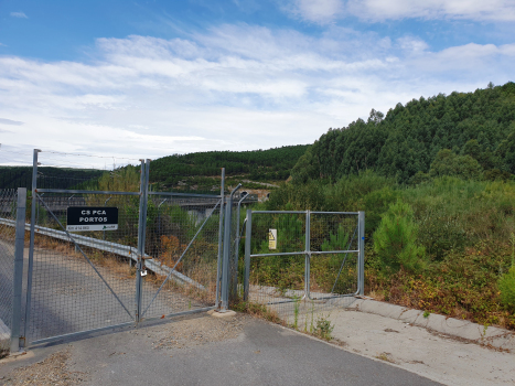
[[364,294],[364,212],[249,210],[246,222],[244,300],[288,313],[278,304]]

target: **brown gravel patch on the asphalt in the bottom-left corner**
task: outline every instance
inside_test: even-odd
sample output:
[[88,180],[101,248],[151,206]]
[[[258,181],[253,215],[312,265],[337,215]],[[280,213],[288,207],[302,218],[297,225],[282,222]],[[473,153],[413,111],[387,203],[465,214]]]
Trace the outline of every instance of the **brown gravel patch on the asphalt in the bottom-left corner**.
[[73,386],[88,378],[86,373],[73,372],[68,368],[69,347],[56,352],[46,360],[33,365],[12,371],[0,379],[0,385],[21,386]]

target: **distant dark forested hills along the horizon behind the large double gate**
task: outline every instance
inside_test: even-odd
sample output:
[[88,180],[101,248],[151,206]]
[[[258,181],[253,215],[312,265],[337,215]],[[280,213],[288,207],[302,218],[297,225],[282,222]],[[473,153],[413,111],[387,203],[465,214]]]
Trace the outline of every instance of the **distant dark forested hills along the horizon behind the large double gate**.
[[[291,168],[308,147],[298,144],[268,150],[210,151],[163,157],[151,162],[150,183],[154,191],[218,191],[221,169],[225,168],[228,185],[243,182],[247,189],[262,189],[261,183],[286,181]],[[60,189],[69,189],[86,182],[93,189],[98,183],[98,176],[106,173],[101,170],[44,167],[40,167],[37,171],[40,187],[44,185]],[[31,189],[31,181],[30,167],[0,167],[0,189]]]

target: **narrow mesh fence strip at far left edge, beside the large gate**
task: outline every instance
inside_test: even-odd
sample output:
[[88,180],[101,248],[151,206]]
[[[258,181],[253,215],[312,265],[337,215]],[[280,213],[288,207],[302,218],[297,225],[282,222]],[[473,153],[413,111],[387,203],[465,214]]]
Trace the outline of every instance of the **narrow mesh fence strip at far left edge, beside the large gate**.
[[0,190],[0,356],[10,347],[17,219],[15,190]]

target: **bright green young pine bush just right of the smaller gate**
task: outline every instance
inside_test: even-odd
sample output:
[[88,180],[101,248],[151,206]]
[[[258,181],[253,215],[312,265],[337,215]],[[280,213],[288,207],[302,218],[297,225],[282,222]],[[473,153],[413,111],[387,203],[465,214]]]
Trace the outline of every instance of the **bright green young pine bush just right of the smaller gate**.
[[411,206],[400,201],[390,205],[374,233],[374,250],[380,262],[394,270],[423,268],[426,250],[416,244],[417,230]]

